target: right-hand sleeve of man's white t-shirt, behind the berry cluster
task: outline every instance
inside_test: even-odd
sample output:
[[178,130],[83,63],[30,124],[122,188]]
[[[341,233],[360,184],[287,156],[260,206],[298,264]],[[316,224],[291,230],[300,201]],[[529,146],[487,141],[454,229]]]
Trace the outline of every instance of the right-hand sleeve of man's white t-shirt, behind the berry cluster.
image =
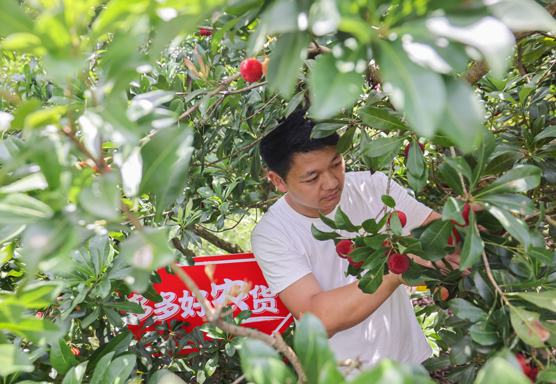
[[[380,196],[386,195],[388,176],[382,172],[375,172],[372,177]],[[401,236],[409,236],[411,230],[420,227],[426,218],[429,217],[430,213],[433,212],[429,207],[409,195],[409,193],[394,180],[390,181],[390,196],[396,202],[396,211],[404,212],[408,219],[408,223],[401,231]]]

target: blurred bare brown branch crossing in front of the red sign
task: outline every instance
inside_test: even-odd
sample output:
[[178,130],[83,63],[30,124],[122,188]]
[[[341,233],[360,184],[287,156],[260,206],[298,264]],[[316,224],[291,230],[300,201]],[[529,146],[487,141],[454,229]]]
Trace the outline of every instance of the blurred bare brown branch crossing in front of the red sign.
[[305,376],[305,371],[301,366],[301,362],[299,361],[299,358],[297,358],[295,352],[284,342],[282,338],[279,339],[277,337],[272,337],[270,335],[267,335],[266,333],[254,330],[252,328],[240,327],[222,321],[220,319],[221,316],[220,311],[212,307],[210,302],[206,300],[206,298],[203,295],[201,295],[201,292],[199,291],[199,287],[197,286],[195,281],[193,281],[192,278],[189,275],[187,275],[185,271],[182,270],[182,268],[178,267],[176,263],[171,263],[170,268],[172,268],[172,271],[176,273],[176,275],[180,278],[180,280],[187,286],[187,288],[191,290],[193,295],[195,295],[198,302],[201,304],[201,306],[207,313],[207,320],[212,325],[219,327],[222,331],[231,333],[232,335],[251,337],[251,338],[256,338],[258,340],[264,341],[271,347],[274,347],[277,351],[281,352],[282,355],[284,355],[287,358],[287,360],[291,362],[291,365],[294,366],[295,371],[297,372],[297,376],[299,377],[299,382],[305,383],[307,381],[307,378]]

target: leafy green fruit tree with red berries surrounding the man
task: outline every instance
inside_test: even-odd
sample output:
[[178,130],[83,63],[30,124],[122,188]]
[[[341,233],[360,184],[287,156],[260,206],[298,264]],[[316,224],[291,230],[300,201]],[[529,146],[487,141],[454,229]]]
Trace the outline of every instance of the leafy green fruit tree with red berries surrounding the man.
[[[157,268],[196,290],[174,261],[207,242],[244,252],[226,234],[280,197],[257,144],[301,108],[312,137],[341,134],[347,170],[385,172],[442,214],[401,237],[387,194],[361,226],[337,210],[313,230],[365,292],[388,270],[426,282],[426,368],[556,382],[555,14],[533,0],[4,0],[3,382],[345,382],[310,314],[272,338],[201,300],[209,323],[192,332],[127,328],[143,312],[129,293],[162,300]],[[406,256],[456,247],[448,275]],[[187,345],[200,351],[178,355]],[[354,382],[386,377],[430,381],[384,360]]]

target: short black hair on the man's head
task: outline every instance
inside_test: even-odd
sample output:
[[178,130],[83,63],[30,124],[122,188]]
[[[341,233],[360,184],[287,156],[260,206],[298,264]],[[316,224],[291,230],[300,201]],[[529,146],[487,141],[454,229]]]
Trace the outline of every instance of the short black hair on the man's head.
[[261,157],[266,165],[284,180],[290,172],[296,153],[321,151],[326,147],[336,146],[340,139],[336,132],[326,137],[311,138],[315,123],[305,113],[306,109],[301,109],[281,119],[279,126],[259,144]]

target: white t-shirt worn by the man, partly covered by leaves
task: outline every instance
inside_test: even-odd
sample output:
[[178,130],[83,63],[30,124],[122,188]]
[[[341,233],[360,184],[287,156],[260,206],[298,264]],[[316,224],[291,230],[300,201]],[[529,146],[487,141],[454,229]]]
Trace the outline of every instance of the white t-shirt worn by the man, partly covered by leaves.
[[[339,206],[354,225],[374,218],[381,210],[380,197],[386,194],[387,183],[388,177],[381,172],[345,174]],[[408,218],[403,236],[419,227],[431,213],[430,208],[394,181],[390,184],[390,196],[396,202],[396,210],[403,211]],[[337,206],[326,216],[333,219],[336,210]],[[345,276],[348,262],[336,255],[334,241],[316,240],[311,235],[311,224],[321,231],[332,231],[320,218],[296,212],[282,196],[255,226],[251,234],[252,250],[273,293],[281,292],[309,273],[315,276],[322,291],[356,281],[355,276]],[[354,237],[347,231],[339,233]],[[401,363],[420,363],[432,353],[404,286],[399,286],[366,320],[337,332],[329,339],[329,345],[336,360],[361,357],[364,367],[384,357]]]

